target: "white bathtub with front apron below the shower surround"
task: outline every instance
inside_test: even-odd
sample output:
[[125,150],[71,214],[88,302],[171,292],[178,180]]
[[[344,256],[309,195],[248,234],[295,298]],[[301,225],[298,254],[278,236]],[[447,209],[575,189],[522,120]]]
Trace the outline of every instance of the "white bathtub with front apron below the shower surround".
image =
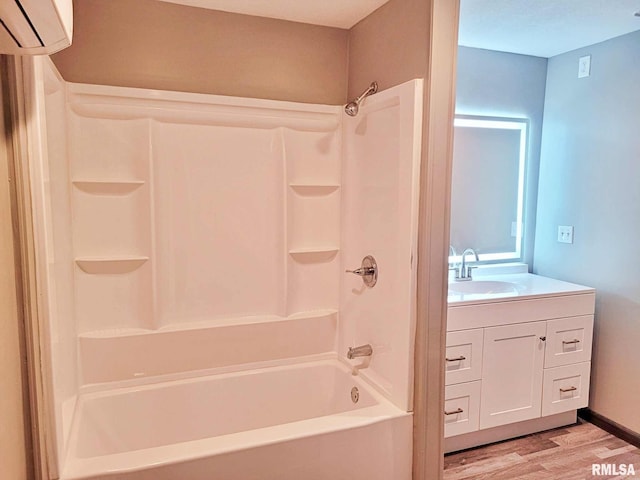
[[61,478],[409,480],[411,429],[337,360],[211,375],[81,395]]

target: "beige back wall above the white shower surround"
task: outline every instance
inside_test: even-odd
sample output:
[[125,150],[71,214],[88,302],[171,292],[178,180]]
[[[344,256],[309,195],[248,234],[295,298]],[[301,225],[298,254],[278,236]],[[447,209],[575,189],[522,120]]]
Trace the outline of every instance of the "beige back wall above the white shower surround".
[[308,103],[346,100],[348,31],[156,0],[76,0],[65,80]]

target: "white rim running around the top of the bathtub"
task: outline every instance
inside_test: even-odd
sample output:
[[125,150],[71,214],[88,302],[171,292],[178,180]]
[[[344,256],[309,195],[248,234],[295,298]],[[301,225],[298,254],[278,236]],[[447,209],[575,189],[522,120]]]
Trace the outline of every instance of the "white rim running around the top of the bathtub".
[[[390,421],[395,418],[411,416],[410,412],[405,412],[395,406],[389,399],[381,394],[371,382],[362,375],[352,377],[356,386],[364,388],[377,402],[373,406],[346,412],[334,413],[321,417],[313,417],[295,422],[289,422],[269,427],[246,430],[242,432],[208,437],[203,439],[189,440],[185,442],[161,445],[129,452],[114,453],[98,457],[81,458],[76,457],[75,452],[78,447],[78,437],[80,429],[80,416],[83,404],[93,398],[103,398],[114,394],[135,392],[139,389],[162,388],[162,384],[175,384],[183,382],[196,382],[214,378],[223,379],[234,375],[249,375],[259,373],[260,370],[274,371],[288,370],[291,368],[308,368],[312,366],[327,366],[337,368],[344,375],[351,375],[352,367],[337,354],[333,355],[313,355],[315,358],[288,359],[278,361],[278,365],[262,366],[251,369],[235,369],[233,371],[203,374],[196,372],[182,378],[162,381],[149,381],[138,385],[121,386],[119,388],[101,389],[98,391],[84,392],[76,402],[75,412],[71,424],[69,441],[65,452],[65,461],[62,465],[61,480],[81,480],[92,478],[96,475],[113,475],[142,471],[150,467],[161,467],[171,464],[179,464],[193,460],[209,457],[213,454],[224,455],[238,450],[256,449],[261,446],[284,443],[292,440],[303,439],[316,435],[330,434],[342,430],[364,428],[376,423]],[[317,358],[323,357],[323,358]],[[176,375],[172,375],[176,376]],[[157,379],[156,379],[157,380]],[[127,381],[131,383],[131,381]]]

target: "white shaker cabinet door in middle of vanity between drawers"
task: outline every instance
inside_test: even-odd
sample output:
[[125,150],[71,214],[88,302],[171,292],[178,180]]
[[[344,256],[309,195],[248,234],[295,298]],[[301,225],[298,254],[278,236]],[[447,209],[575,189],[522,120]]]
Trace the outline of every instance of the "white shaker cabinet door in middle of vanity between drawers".
[[480,428],[540,416],[546,322],[486,328]]

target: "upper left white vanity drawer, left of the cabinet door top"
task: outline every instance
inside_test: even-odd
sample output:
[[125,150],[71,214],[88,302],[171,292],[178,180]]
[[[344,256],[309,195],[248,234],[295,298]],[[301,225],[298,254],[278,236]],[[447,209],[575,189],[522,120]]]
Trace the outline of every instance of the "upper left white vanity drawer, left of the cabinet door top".
[[480,380],[483,329],[447,333],[445,385]]

